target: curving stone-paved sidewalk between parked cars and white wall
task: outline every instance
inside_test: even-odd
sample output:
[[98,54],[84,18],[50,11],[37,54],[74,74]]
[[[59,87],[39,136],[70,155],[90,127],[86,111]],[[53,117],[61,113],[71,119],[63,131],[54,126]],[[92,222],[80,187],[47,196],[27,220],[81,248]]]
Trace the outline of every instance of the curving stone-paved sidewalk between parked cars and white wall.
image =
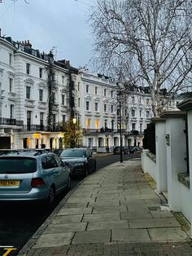
[[84,179],[19,255],[192,255],[192,243],[133,159]]

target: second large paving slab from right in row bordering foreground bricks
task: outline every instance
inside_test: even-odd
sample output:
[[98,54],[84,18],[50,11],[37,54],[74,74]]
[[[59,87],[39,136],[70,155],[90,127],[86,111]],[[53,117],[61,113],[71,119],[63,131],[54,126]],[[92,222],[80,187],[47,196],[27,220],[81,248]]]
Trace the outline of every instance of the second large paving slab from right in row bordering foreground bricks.
[[150,242],[151,238],[147,229],[114,229],[112,230],[111,241],[126,242]]

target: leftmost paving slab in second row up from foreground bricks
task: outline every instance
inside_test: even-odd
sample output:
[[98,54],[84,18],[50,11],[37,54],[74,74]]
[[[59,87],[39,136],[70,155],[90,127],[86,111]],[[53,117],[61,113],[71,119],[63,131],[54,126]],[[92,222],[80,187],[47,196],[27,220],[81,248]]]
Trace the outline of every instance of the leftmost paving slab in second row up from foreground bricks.
[[44,234],[85,231],[87,223],[50,224]]

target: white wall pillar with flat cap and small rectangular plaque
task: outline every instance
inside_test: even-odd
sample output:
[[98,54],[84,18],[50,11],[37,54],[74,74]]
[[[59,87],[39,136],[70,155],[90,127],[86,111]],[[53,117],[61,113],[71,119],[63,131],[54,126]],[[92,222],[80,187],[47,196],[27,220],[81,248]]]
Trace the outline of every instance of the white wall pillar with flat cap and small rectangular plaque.
[[181,211],[181,189],[178,174],[186,171],[185,113],[172,111],[164,113],[161,117],[166,117],[168,205],[174,211]]

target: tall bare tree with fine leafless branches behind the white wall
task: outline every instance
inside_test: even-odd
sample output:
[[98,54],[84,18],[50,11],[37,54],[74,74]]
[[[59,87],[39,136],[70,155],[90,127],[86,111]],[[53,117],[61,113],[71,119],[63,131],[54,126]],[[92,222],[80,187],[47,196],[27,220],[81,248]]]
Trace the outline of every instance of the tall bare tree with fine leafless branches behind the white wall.
[[189,89],[190,0],[97,0],[90,11],[94,63],[127,84],[149,86],[155,116],[163,108],[162,88],[167,88],[170,97]]

